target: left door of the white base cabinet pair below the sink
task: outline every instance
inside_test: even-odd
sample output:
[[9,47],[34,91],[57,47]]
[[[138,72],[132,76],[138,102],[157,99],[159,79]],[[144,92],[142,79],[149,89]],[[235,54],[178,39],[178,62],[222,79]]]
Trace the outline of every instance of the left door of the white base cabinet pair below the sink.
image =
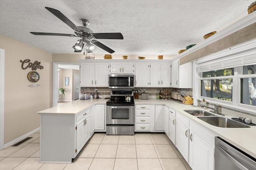
[[189,129],[176,119],[176,148],[188,162]]

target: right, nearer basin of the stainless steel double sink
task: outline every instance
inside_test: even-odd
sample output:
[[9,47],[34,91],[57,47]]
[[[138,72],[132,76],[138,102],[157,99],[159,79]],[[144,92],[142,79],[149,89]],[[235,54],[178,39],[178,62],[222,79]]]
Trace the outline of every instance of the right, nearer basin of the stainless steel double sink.
[[205,121],[206,123],[209,123],[210,125],[214,125],[217,127],[226,127],[226,128],[245,128],[250,127],[244,123],[240,123],[238,121],[228,119],[226,117],[218,117],[218,116],[209,116],[209,117],[197,117],[198,119],[201,119],[202,121]]

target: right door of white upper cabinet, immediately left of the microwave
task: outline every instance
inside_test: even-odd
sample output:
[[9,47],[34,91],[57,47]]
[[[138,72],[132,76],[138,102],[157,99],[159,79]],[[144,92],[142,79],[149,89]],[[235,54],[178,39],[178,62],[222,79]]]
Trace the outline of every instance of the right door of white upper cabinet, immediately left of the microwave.
[[95,63],[95,86],[108,86],[108,63]]

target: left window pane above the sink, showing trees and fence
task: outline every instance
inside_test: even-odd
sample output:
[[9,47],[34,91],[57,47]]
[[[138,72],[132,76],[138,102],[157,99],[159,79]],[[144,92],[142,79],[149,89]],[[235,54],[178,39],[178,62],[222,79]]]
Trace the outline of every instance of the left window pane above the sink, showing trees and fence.
[[201,96],[232,102],[234,68],[202,72]]

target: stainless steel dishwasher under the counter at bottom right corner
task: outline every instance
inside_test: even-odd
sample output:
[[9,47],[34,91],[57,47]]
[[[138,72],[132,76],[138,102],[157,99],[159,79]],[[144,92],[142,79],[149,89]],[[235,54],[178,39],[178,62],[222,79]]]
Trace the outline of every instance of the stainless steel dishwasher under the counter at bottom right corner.
[[215,170],[256,170],[256,158],[215,137]]

